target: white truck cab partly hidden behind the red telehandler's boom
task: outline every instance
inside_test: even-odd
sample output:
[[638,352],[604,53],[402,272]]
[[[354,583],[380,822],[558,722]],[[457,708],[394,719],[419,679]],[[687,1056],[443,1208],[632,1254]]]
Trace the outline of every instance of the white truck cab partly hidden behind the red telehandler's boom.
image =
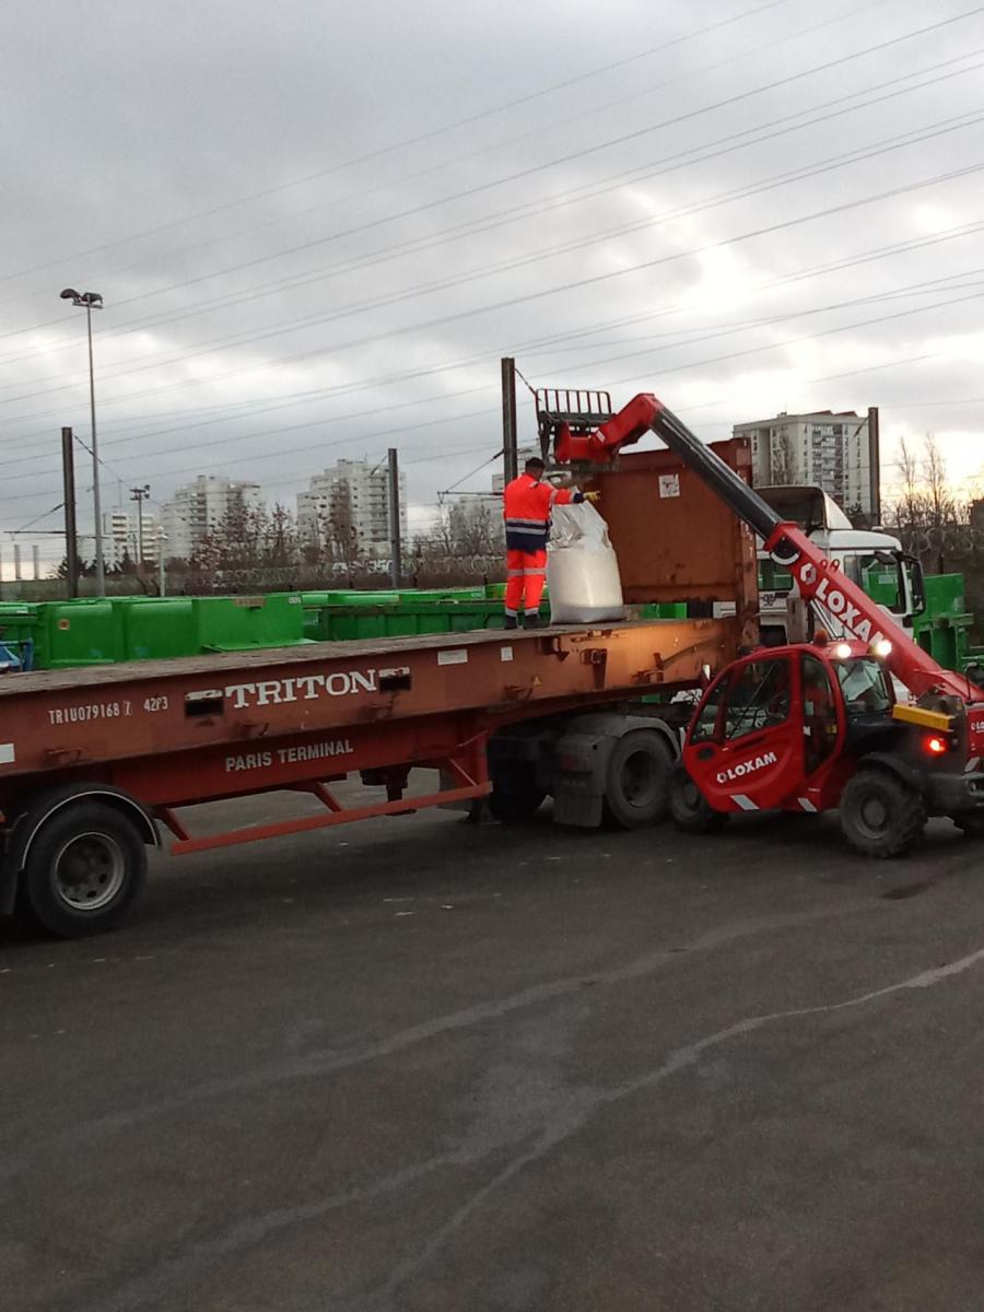
[[[901,542],[878,529],[855,529],[837,502],[823,488],[790,485],[757,488],[758,495],[778,514],[799,525],[824,555],[844,572],[896,623],[912,632],[914,617],[925,609],[922,569],[903,551]],[[808,642],[813,618],[796,589],[792,576],[758,543],[758,628],[768,647]],[[832,638],[841,636],[837,632]]]

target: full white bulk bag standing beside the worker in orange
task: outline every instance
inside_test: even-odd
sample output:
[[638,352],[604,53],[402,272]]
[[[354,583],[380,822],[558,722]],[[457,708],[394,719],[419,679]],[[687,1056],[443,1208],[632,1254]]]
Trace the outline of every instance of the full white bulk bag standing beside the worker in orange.
[[555,505],[547,543],[550,622],[623,619],[622,580],[607,525],[589,501]]

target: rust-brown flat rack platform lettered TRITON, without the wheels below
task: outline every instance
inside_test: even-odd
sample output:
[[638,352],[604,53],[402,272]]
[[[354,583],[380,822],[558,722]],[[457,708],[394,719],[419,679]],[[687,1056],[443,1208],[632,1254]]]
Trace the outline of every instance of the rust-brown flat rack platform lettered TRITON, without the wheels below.
[[[302,764],[295,753],[262,764],[285,735],[290,753],[312,735],[345,731],[349,768],[378,768],[390,764],[380,753],[387,754],[384,740],[398,722],[463,716],[471,736],[482,724],[546,714],[572,699],[584,705],[693,686],[731,646],[726,621],[647,621],[22,674],[0,682],[0,806],[10,782],[55,769],[110,768],[139,782],[139,794],[154,806],[241,791],[230,782],[244,773],[276,786],[298,775],[287,770],[285,777],[282,765]],[[176,786],[168,760],[192,750],[194,778]],[[211,777],[215,761],[222,786]],[[188,764],[174,769],[188,773]]]

